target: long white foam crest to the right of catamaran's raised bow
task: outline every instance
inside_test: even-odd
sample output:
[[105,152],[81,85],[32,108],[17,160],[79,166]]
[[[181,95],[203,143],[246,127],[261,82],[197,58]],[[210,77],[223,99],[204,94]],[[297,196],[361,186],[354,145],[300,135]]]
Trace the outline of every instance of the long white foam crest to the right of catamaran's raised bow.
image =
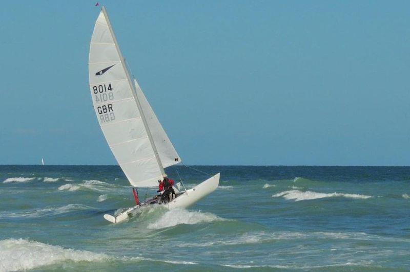
[[370,195],[359,195],[359,194],[317,193],[317,192],[312,192],[312,191],[302,192],[299,190],[284,191],[284,192],[272,195],[272,197],[280,197],[280,196],[288,200],[294,199],[295,201],[312,200],[312,199],[326,198],[326,197],[347,197],[347,198],[360,198],[360,199],[366,199],[366,198],[373,197]]

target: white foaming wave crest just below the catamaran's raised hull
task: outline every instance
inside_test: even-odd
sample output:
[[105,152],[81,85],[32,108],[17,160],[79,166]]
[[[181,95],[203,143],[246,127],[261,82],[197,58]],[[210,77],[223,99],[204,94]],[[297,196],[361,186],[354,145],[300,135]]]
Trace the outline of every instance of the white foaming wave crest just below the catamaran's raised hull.
[[185,209],[173,209],[163,214],[157,221],[150,223],[148,229],[163,229],[178,224],[199,224],[213,221],[225,221],[212,213],[190,212]]

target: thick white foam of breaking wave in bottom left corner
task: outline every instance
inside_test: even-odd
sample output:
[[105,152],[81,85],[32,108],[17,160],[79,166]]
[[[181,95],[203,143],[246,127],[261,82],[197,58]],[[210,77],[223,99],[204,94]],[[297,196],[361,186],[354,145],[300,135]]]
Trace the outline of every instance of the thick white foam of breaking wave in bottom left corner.
[[0,270],[26,270],[61,261],[104,261],[111,257],[89,251],[66,249],[25,239],[0,240]]

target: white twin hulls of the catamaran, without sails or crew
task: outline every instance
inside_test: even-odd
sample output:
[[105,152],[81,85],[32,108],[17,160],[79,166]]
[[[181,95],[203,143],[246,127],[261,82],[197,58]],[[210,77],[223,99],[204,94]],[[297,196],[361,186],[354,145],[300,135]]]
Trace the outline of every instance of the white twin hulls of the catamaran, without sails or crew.
[[[219,173],[205,180],[204,182],[198,184],[194,188],[187,190],[182,195],[178,196],[177,198],[170,201],[164,206],[167,209],[187,208],[193,205],[195,202],[197,202],[201,198],[215,191],[218,185],[219,185]],[[127,220],[129,217],[137,213],[140,207],[141,206],[134,206],[132,208],[129,208],[125,212],[118,214],[115,217],[109,214],[105,214],[104,218],[110,221],[111,223],[119,223],[119,222]]]

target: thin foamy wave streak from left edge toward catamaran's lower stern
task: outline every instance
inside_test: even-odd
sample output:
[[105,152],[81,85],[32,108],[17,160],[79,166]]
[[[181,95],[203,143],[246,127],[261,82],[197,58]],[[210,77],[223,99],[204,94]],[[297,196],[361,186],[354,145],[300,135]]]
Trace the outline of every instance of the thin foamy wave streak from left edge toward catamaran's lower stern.
[[13,212],[0,212],[0,218],[18,218],[18,217],[27,217],[27,218],[35,218],[35,217],[44,217],[44,216],[55,216],[58,214],[64,214],[72,211],[80,211],[80,210],[88,210],[93,209],[92,207],[81,205],[81,204],[69,204],[62,207],[49,207],[43,209],[33,209],[33,210],[26,210],[20,211],[17,213]]

